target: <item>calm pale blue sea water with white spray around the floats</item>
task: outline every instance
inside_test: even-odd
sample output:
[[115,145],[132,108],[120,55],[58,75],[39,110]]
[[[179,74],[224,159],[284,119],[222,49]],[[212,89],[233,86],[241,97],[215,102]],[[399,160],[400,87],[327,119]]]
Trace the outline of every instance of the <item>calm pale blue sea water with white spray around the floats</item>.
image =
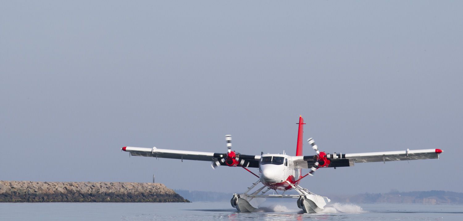
[[195,203],[0,203],[0,221],[463,221],[463,205],[329,203],[319,214],[304,214],[296,203],[263,204],[238,213],[229,202]]

